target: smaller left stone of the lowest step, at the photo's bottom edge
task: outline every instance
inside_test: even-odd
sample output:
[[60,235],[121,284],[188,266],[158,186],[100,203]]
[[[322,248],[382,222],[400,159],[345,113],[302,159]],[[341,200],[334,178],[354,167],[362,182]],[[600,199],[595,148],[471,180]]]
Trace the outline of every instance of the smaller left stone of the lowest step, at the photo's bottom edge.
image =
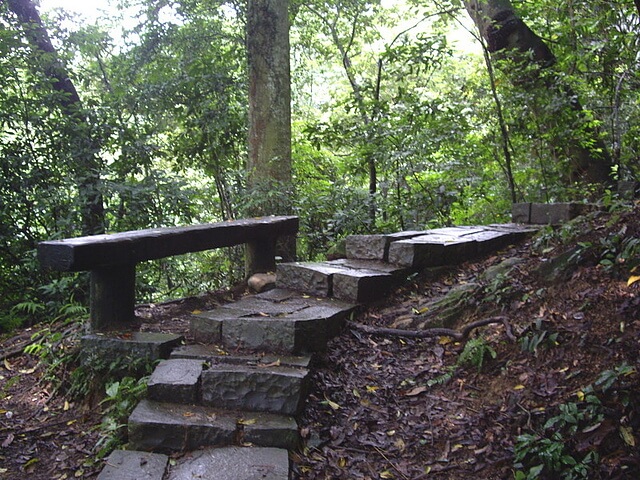
[[97,480],[162,480],[168,462],[160,453],[114,450]]

